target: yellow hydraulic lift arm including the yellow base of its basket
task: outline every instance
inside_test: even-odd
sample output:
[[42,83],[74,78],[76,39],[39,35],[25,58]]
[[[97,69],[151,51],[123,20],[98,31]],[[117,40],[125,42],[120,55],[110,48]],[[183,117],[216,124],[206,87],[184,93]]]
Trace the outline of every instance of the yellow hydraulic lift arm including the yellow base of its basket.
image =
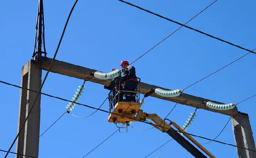
[[[186,134],[186,132],[180,126],[178,126],[175,122],[169,120],[170,124],[167,124],[165,120],[162,120],[156,114],[144,113],[143,110],[140,110],[140,104],[137,102],[118,102],[113,109],[113,113],[114,114],[110,114],[108,116],[108,121],[113,122],[116,125],[117,123],[129,125],[131,121],[146,121],[146,119],[152,120],[156,125],[158,125],[158,126],[156,125],[152,125],[152,126],[154,126],[156,129],[162,132],[166,132],[175,141],[177,141],[183,148],[185,148],[188,152],[190,152],[194,157],[207,158],[202,152],[200,152],[189,141],[187,141],[181,134],[175,131],[171,127],[171,125],[173,125],[178,131],[183,133],[184,136],[186,136],[191,142],[193,142],[198,148],[200,148],[210,158],[215,158],[209,151],[207,151],[206,148],[204,148],[201,144],[199,144],[196,140],[194,140],[194,138]],[[133,119],[118,116],[115,114],[119,114],[126,117],[128,116]]]

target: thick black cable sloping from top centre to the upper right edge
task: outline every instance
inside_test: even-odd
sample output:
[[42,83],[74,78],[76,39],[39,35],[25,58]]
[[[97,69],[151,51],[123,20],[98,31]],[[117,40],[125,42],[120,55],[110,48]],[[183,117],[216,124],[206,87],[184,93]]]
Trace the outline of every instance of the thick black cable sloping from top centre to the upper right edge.
[[129,3],[129,2],[126,2],[126,1],[123,1],[123,0],[118,0],[118,1],[124,2],[125,4],[128,4],[128,5],[130,5],[130,6],[136,7],[136,8],[138,8],[138,9],[140,9],[140,10],[146,11],[146,12],[151,13],[151,14],[153,14],[153,15],[156,15],[156,16],[158,16],[158,17],[160,17],[160,18],[164,18],[165,20],[168,20],[168,21],[170,21],[170,22],[174,22],[174,23],[176,23],[176,24],[178,24],[178,25],[181,25],[181,26],[184,26],[184,27],[186,27],[186,28],[192,29],[193,31],[199,32],[199,33],[204,34],[204,35],[206,35],[206,36],[209,36],[209,37],[212,37],[212,38],[214,38],[214,39],[220,40],[220,41],[222,41],[222,42],[228,43],[228,44],[233,45],[233,46],[235,46],[235,47],[237,47],[237,48],[240,48],[240,49],[242,49],[242,50],[246,50],[246,51],[249,51],[249,52],[251,52],[251,53],[256,54],[256,53],[253,52],[252,50],[249,50],[249,49],[240,47],[239,45],[235,45],[235,44],[233,44],[233,43],[230,43],[230,42],[228,42],[228,41],[226,41],[226,40],[223,40],[223,39],[220,39],[220,38],[218,38],[218,37],[214,37],[214,36],[212,36],[212,35],[210,35],[210,34],[208,34],[208,33],[204,33],[204,32],[202,32],[202,31],[199,31],[198,29],[194,29],[194,28],[192,28],[192,27],[186,26],[186,25],[184,25],[184,24],[182,24],[182,23],[176,22],[176,21],[171,20],[171,19],[169,19],[169,18],[167,18],[167,17],[161,16],[161,15],[156,14],[156,13],[154,13],[154,12],[151,12],[151,11],[149,11],[149,10],[143,9],[142,7],[136,6],[136,5],[131,4],[131,3]]

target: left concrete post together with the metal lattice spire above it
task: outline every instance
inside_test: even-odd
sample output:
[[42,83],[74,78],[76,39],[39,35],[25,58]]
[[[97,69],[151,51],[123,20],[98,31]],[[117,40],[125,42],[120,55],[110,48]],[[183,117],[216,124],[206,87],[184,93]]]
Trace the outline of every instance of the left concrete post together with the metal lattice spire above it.
[[[42,49],[44,51],[42,51]],[[46,57],[46,48],[44,43],[44,15],[43,15],[43,0],[38,0],[36,36],[34,42],[34,50],[32,58],[42,61],[42,54]],[[42,69],[40,65],[28,61],[21,70],[21,87],[39,91],[41,87]],[[31,108],[37,93],[21,89],[20,105],[18,115],[18,129],[21,130],[16,141],[16,153],[27,156],[38,157],[39,151],[39,130],[40,130],[40,102],[41,94],[39,94],[34,108],[31,111],[30,117],[26,121],[25,126],[21,126],[25,121],[29,109]],[[23,156],[16,155],[16,158]],[[24,156],[25,158],[25,156]],[[27,157],[26,157],[27,158]]]

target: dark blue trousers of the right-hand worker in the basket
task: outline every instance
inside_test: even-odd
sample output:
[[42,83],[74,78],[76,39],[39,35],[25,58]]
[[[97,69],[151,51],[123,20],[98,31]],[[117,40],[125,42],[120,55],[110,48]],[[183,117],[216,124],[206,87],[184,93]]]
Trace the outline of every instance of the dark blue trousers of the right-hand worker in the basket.
[[135,93],[134,93],[136,87],[137,87],[137,81],[130,80],[130,81],[126,81],[124,83],[123,91],[133,91],[133,92],[123,92],[124,97],[126,98],[127,101],[136,102],[136,97],[135,97]]

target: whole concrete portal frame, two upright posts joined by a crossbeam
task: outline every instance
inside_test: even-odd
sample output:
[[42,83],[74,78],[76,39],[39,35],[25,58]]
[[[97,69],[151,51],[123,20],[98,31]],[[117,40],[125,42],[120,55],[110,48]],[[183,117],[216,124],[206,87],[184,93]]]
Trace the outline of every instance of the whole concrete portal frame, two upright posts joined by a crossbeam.
[[[22,87],[28,87],[30,89],[33,89],[35,91],[38,91],[41,86],[41,74],[42,70],[48,70],[50,62],[52,59],[50,58],[44,58],[42,61],[35,61],[31,60],[27,62],[22,67]],[[42,70],[41,70],[41,69]],[[85,79],[86,77],[91,77],[90,81],[94,83],[98,83],[101,85],[106,84],[106,81],[102,81],[98,78],[95,78],[94,76],[91,76],[91,72],[95,72],[97,70],[88,69],[86,67],[70,64],[63,61],[54,60],[51,69],[49,70],[53,73],[58,73],[61,75],[69,76],[69,77],[75,77],[79,79]],[[31,77],[33,76],[33,78]],[[107,83],[110,81],[107,80]],[[151,88],[161,88],[166,89],[154,85],[149,85],[147,83],[140,83],[140,93],[145,94],[151,90]],[[169,90],[169,89],[166,89]],[[36,93],[34,92],[27,92],[26,90],[21,90],[21,100],[20,100],[20,111],[19,111],[19,125],[20,122],[23,122],[25,119],[25,113],[28,113],[28,108],[31,105],[31,103],[27,104],[27,99],[33,100],[36,96]],[[156,94],[152,94],[151,97],[156,97],[159,99],[169,100],[171,102],[177,102],[178,97],[173,98],[167,98],[167,97],[160,97]],[[180,100],[178,101],[179,104],[196,107],[198,104],[198,108],[213,111],[215,113],[221,113],[224,115],[231,116],[233,110],[213,110],[206,107],[206,105],[202,104],[203,101],[211,101],[213,103],[219,103],[220,102],[212,101],[205,98],[200,98],[196,96],[191,96],[189,94],[183,93],[180,97]],[[36,104],[34,105],[35,109],[33,109],[33,114],[28,119],[28,122],[25,126],[25,129],[22,131],[18,143],[17,143],[17,152],[20,153],[23,152],[23,154],[27,154],[30,156],[37,157],[38,155],[38,143],[39,143],[39,123],[40,123],[40,97],[38,97],[38,100]],[[25,109],[26,107],[26,109]],[[254,138],[252,136],[252,130],[250,126],[249,117],[247,114],[240,113],[238,109],[236,108],[234,111],[234,115],[232,118],[232,127],[235,137],[235,143],[237,146],[249,148],[252,150],[255,149],[255,143]],[[245,149],[237,148],[238,157],[239,158],[256,158],[256,153],[252,151],[248,151]]]

